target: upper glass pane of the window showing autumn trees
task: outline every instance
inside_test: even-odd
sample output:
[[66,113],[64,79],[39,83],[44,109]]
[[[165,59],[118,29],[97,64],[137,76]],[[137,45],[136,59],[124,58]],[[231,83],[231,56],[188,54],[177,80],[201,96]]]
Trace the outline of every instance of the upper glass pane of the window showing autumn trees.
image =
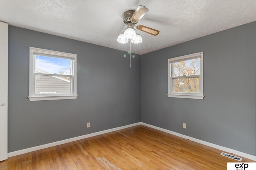
[[173,63],[173,76],[200,75],[200,58]]

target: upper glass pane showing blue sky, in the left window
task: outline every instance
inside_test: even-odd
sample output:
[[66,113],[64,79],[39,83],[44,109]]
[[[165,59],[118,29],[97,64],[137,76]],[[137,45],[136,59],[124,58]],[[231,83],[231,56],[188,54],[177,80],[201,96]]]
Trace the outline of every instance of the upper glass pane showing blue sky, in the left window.
[[71,75],[71,60],[36,56],[36,72]]

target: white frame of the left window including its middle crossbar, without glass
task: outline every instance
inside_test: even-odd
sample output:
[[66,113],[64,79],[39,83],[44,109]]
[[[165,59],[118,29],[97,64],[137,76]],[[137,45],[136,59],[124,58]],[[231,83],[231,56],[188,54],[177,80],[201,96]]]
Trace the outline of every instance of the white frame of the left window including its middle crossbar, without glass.
[[[47,49],[40,49],[35,47],[29,48],[29,100],[39,101],[39,100],[63,100],[63,99],[76,99],[76,54],[64,53],[59,51],[52,51]],[[73,74],[71,75],[71,93],[54,94],[54,93],[42,93],[35,94],[35,84],[36,84],[36,55],[45,54],[45,56],[56,57],[62,59],[72,59],[73,63]],[[43,74],[42,74],[43,75]],[[44,74],[46,75],[46,74]],[[47,74],[46,76],[63,76],[62,74]]]

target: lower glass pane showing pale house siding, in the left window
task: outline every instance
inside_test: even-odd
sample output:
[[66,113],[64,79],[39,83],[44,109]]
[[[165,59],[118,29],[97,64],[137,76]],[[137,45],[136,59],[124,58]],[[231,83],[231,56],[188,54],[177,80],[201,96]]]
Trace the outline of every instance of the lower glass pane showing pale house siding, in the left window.
[[71,93],[70,78],[71,77],[36,75],[35,94]]

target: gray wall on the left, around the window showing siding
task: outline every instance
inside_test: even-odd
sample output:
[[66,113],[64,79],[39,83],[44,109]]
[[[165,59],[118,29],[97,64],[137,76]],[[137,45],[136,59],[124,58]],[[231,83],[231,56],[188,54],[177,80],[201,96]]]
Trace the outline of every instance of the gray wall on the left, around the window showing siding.
[[[77,99],[28,100],[30,46],[77,54]],[[140,121],[139,55],[14,26],[8,53],[8,152]]]

